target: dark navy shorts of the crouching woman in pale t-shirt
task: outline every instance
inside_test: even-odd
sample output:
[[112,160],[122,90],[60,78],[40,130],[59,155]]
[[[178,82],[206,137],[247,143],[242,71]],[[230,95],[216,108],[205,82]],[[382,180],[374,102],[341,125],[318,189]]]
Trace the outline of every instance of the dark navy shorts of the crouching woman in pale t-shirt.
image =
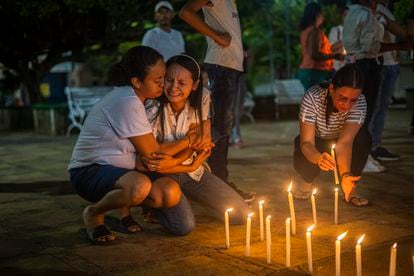
[[[116,181],[134,169],[114,167],[112,165],[92,164],[86,167],[71,169],[70,182],[75,191],[84,199],[90,202],[101,200],[115,187]],[[151,182],[164,177],[157,172],[145,172]]]

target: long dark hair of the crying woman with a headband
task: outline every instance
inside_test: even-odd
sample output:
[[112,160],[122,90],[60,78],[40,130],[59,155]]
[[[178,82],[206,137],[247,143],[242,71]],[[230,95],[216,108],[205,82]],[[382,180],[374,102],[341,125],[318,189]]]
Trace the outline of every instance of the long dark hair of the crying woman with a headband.
[[[191,78],[194,82],[198,81],[198,87],[195,91],[192,91],[190,96],[188,97],[188,102],[190,106],[193,108],[196,118],[198,119],[196,124],[199,123],[203,126],[203,108],[202,108],[202,100],[203,100],[203,80],[201,74],[201,68],[198,62],[188,54],[180,54],[171,57],[167,60],[167,68],[172,64],[178,64],[185,69],[187,69],[191,73]],[[165,94],[161,95],[160,98],[160,108],[159,114],[160,121],[161,121],[161,137],[162,141],[164,140],[164,122],[165,114],[164,114],[164,106],[168,103],[168,98]],[[203,134],[203,128],[201,127],[201,134]]]

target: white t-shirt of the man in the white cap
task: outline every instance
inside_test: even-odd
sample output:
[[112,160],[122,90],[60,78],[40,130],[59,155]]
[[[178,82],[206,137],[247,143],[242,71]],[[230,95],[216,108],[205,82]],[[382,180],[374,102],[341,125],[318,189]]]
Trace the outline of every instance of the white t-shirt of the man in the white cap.
[[174,29],[170,32],[158,27],[148,30],[142,38],[142,45],[157,50],[164,57],[164,61],[185,52],[183,35]]

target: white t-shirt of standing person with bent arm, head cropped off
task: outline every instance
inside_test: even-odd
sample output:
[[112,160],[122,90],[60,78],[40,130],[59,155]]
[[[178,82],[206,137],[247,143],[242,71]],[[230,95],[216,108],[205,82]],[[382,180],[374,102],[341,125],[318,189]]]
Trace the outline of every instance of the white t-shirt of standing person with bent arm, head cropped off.
[[207,37],[205,63],[217,64],[243,72],[243,45],[239,13],[233,0],[212,0],[213,6],[202,8],[204,21],[218,32],[231,36],[229,47],[223,48]]

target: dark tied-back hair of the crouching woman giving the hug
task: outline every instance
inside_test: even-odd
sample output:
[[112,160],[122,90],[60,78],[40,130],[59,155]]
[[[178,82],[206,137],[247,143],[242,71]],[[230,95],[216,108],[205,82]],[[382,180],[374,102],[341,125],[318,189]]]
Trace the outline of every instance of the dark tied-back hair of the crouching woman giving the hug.
[[113,86],[131,85],[131,78],[144,81],[149,68],[163,57],[151,47],[136,46],[129,49],[122,60],[114,64],[108,72],[108,83]]

